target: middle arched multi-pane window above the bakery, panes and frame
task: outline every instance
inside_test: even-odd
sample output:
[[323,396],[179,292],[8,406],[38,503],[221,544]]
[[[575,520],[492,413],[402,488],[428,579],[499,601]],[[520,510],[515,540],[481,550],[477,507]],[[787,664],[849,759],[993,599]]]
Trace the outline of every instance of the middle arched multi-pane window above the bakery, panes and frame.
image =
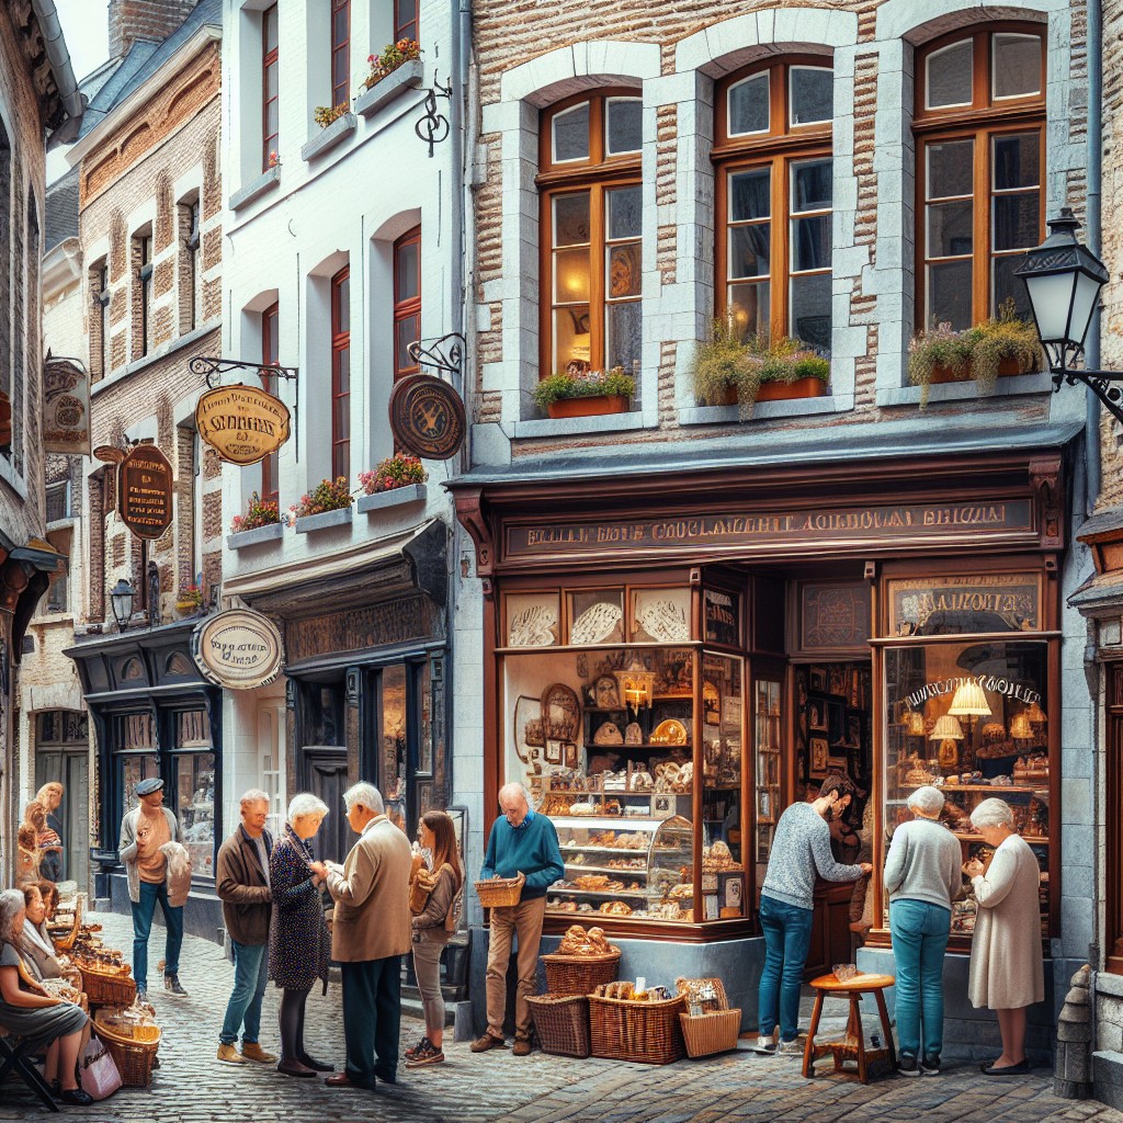
[[741,338],[830,354],[831,67],[757,66],[716,98],[716,314]]

